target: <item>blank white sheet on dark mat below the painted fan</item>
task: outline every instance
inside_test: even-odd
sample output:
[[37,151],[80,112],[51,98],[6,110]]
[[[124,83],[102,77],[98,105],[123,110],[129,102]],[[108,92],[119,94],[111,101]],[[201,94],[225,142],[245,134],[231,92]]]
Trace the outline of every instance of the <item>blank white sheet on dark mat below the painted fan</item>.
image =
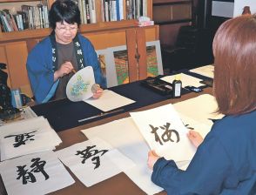
[[91,104],[101,111],[111,111],[127,104],[132,104],[135,101],[125,98],[114,91],[104,90],[102,97],[98,99],[87,99],[84,102]]

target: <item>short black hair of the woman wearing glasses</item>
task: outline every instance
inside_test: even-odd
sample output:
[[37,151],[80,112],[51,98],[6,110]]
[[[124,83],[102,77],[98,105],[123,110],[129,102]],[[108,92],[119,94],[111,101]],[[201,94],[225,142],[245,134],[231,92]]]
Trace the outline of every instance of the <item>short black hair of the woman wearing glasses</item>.
[[80,10],[77,3],[72,0],[56,0],[49,11],[49,23],[52,29],[56,28],[57,22],[68,24],[81,24]]

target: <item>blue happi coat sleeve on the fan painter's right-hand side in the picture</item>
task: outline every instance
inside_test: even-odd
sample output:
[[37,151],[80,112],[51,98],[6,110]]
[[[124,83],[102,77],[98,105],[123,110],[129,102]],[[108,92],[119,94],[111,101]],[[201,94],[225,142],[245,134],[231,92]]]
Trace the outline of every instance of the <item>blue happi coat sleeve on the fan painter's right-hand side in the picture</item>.
[[95,82],[97,84],[100,84],[101,87],[106,88],[106,80],[101,73],[100,64],[98,62],[98,56],[96,51],[94,50],[93,45],[85,37],[79,36],[79,39],[82,43],[85,64],[91,65],[94,71]]

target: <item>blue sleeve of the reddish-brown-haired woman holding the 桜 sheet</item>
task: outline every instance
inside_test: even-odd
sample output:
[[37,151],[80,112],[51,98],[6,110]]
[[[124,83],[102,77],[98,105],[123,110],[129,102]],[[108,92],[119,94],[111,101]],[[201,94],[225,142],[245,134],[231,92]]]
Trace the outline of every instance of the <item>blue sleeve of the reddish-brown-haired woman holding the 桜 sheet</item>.
[[199,146],[186,171],[179,170],[174,161],[159,158],[152,181],[168,194],[219,194],[224,186],[239,183],[224,147],[212,136]]

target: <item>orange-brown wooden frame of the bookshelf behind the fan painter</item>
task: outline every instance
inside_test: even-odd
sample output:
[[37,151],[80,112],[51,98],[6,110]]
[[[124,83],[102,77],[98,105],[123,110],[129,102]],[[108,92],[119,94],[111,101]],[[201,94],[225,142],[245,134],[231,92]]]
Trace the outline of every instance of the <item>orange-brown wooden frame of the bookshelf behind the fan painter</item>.
[[[127,1],[122,0],[125,5]],[[18,10],[22,4],[46,3],[48,8],[54,0],[0,0],[0,10]],[[120,21],[105,22],[103,18],[102,3],[104,0],[95,0],[96,24],[81,24],[80,32],[84,37],[88,37],[96,50],[126,44],[126,30],[143,28],[145,30],[145,40],[158,40],[158,25],[148,27],[138,27],[137,19],[127,19],[126,6],[123,6],[124,19]],[[143,0],[146,3],[146,16],[152,19],[152,0]],[[30,82],[26,71],[26,58],[30,49],[42,38],[51,33],[50,28],[26,29],[19,31],[0,31],[0,60],[7,64],[8,84],[11,89],[21,88],[22,92],[32,97]]]

